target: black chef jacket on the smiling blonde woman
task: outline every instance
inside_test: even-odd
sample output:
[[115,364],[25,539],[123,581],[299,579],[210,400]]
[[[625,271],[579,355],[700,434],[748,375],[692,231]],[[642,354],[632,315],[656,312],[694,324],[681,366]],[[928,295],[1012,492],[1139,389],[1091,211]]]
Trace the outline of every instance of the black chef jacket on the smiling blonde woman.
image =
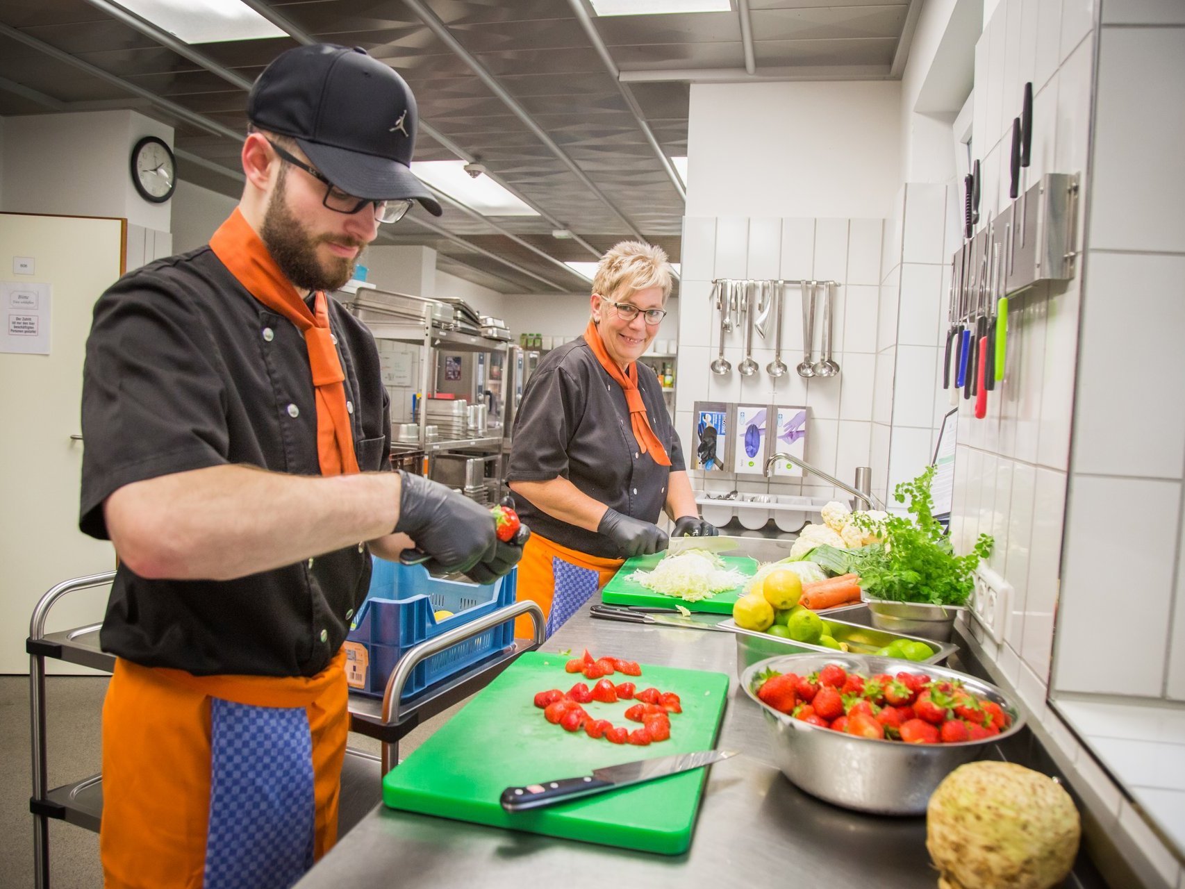
[[[626,392],[581,338],[550,352],[527,380],[514,421],[507,480],[565,478],[617,512],[658,522],[670,474],[684,469],[683,448],[662,403],[662,386],[645,365],[638,367],[638,389],[671,466],[641,453]],[[519,516],[536,533],[590,556],[620,557],[617,544],[604,535],[555,518],[525,498],[519,501]]]

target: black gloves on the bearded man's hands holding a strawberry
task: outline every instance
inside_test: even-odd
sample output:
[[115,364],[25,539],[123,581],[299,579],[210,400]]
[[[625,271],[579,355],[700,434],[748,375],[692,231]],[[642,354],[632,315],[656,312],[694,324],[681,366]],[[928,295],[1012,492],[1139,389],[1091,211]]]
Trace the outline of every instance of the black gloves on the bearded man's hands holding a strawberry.
[[486,507],[422,475],[401,472],[399,477],[395,530],[409,535],[430,556],[424,563],[429,571],[465,574],[478,583],[492,583],[523,558],[523,544],[531,536],[526,525],[502,543]]

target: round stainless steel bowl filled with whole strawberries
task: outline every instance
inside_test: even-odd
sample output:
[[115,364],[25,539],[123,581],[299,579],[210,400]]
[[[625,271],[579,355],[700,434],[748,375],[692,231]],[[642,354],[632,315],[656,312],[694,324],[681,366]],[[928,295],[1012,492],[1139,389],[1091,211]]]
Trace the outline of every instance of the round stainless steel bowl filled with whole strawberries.
[[[998,703],[1012,717],[1012,724],[995,737],[959,744],[880,741],[795,719],[762,703],[751,687],[757,674],[769,669],[802,676],[827,664],[839,664],[844,670],[865,674],[904,671],[959,679],[971,693]],[[873,814],[923,814],[930,794],[943,778],[986,754],[992,744],[1014,735],[1025,722],[1020,710],[989,683],[947,667],[867,654],[834,652],[768,658],[741,674],[741,687],[766,715],[766,724],[773,733],[774,756],[783,775],[812,797]]]

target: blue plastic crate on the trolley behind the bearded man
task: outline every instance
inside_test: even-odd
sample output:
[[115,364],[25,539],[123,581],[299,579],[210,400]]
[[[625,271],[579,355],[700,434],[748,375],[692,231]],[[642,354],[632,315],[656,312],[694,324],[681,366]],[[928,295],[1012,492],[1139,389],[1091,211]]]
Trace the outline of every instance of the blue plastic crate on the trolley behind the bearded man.
[[[483,618],[514,602],[518,569],[493,583],[476,584],[433,577],[423,565],[404,565],[373,559],[370,590],[346,637],[346,673],[351,690],[383,697],[386,680],[399,658],[415,645],[455,627]],[[453,612],[437,622],[440,609]],[[449,646],[416,665],[401,699],[415,697],[429,686],[500,654],[514,641],[514,620]],[[366,650],[365,665],[356,647]]]

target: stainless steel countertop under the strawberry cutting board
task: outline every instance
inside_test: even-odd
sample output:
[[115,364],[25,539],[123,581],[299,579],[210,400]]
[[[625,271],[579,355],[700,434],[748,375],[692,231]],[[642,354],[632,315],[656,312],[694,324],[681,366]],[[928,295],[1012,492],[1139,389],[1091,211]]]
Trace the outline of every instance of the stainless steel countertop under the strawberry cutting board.
[[[596,597],[597,600],[600,597]],[[297,885],[935,885],[922,818],[875,818],[807,797],[769,765],[760,710],[736,686],[731,633],[594,620],[582,609],[544,651],[715,670],[732,679],[719,747],[743,750],[712,767],[688,852],[610,846],[397,812],[366,816]],[[474,756],[497,755],[474,743]],[[587,878],[585,878],[587,877]],[[575,882],[574,882],[575,881]]]

